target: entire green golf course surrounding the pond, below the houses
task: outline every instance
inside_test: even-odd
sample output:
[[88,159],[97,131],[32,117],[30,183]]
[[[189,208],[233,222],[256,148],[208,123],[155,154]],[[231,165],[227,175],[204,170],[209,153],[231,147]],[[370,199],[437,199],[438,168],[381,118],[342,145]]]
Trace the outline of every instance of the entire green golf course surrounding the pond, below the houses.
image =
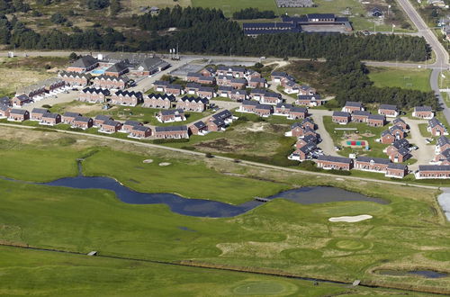
[[[2,132],[0,232],[8,245],[0,247],[3,294],[121,295],[130,287],[137,295],[158,287],[158,295],[195,296],[402,293],[392,288],[449,293],[448,276],[377,273],[450,273],[450,226],[435,188],[290,173],[56,131],[2,127]],[[237,205],[302,186],[329,185],[386,203],[275,199],[236,217],[212,219],[176,214],[165,204],[121,202],[111,191],[39,184],[78,175],[80,158],[83,175],[112,177],[141,193]],[[363,214],[373,218],[329,221]],[[99,256],[85,256],[91,251]],[[274,275],[348,284],[361,280],[377,288],[314,286]],[[20,284],[21,277],[30,281]]]

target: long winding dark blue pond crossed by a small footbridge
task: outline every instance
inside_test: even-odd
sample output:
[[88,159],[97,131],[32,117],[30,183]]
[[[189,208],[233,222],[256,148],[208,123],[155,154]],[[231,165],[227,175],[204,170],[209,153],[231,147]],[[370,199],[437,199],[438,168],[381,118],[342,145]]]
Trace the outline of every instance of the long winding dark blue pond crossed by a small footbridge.
[[[121,202],[130,204],[161,204],[169,206],[171,211],[194,217],[226,218],[234,217],[253,210],[264,202],[250,201],[239,205],[205,199],[189,199],[174,193],[139,193],[120,184],[116,180],[102,176],[83,176],[61,178],[44,183],[50,186],[65,186],[74,189],[103,189],[114,192]],[[278,193],[267,197],[267,200],[284,198],[302,204],[343,201],[367,201],[387,203],[382,199],[367,197],[360,193],[328,187],[303,187]]]

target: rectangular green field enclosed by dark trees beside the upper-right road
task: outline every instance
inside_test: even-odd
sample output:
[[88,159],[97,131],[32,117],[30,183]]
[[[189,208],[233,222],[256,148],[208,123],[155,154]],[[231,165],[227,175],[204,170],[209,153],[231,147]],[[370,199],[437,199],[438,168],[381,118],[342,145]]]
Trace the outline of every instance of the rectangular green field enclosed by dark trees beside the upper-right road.
[[423,92],[431,91],[430,69],[369,67],[369,78],[375,86],[398,86]]

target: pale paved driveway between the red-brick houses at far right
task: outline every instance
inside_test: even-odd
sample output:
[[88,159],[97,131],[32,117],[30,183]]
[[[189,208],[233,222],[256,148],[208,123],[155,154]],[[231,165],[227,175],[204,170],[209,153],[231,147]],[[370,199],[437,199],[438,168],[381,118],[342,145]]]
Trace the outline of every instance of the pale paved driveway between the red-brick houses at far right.
[[419,124],[427,123],[428,121],[410,120],[406,117],[402,119],[410,126],[410,143],[419,148],[411,152],[412,157],[418,161],[410,166],[410,170],[417,170],[419,165],[428,165],[429,161],[435,156],[435,146],[427,145],[419,130]]

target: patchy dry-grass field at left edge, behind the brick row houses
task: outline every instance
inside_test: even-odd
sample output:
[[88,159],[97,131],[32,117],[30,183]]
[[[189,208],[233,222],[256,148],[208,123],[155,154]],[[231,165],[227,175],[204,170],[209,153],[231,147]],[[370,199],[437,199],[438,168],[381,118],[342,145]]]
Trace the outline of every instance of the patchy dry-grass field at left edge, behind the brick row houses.
[[17,89],[55,76],[66,64],[67,58],[0,58],[0,96],[15,94]]

